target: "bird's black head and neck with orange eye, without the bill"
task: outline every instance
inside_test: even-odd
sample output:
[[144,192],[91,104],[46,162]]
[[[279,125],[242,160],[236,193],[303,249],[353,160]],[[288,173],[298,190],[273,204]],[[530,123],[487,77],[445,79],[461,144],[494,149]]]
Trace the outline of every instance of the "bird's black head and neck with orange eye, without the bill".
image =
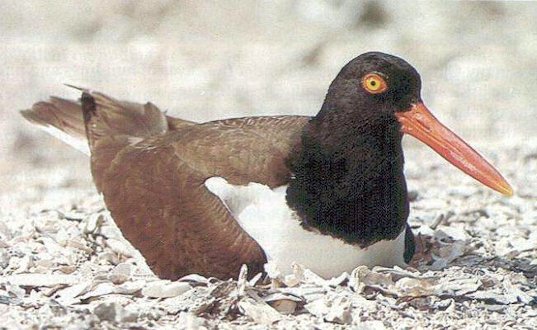
[[371,52],[341,69],[290,159],[288,205],[306,228],[368,246],[394,239],[408,200],[397,114],[420,103],[418,72]]

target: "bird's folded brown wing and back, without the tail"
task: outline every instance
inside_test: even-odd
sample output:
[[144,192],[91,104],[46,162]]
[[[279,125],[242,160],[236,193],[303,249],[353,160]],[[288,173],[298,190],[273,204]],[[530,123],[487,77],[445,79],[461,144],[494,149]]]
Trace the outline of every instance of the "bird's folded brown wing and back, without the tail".
[[101,190],[114,220],[160,277],[234,277],[266,262],[204,182],[269,186],[289,179],[286,157],[307,117],[250,117],[189,125],[127,146],[106,170]]

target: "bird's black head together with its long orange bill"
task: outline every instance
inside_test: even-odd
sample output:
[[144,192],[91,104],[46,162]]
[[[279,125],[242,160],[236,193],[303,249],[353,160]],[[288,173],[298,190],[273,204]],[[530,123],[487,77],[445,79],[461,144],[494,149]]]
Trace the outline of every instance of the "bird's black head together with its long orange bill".
[[[388,120],[401,133],[427,144],[451,164],[504,194],[507,181],[481,155],[440,123],[421,99],[421,78],[405,60],[384,53],[362,54],[341,69],[328,90],[320,117],[355,116],[362,124]],[[358,123],[360,124],[360,123]]]

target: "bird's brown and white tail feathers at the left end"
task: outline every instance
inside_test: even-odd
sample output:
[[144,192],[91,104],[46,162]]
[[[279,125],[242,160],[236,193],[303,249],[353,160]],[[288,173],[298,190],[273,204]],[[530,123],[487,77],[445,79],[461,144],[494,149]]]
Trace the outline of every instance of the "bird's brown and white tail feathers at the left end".
[[79,102],[51,97],[21,114],[69,145],[91,154],[97,188],[101,176],[121,149],[150,136],[194,124],[166,116],[149,102],[119,101],[99,92],[74,88],[82,91]]

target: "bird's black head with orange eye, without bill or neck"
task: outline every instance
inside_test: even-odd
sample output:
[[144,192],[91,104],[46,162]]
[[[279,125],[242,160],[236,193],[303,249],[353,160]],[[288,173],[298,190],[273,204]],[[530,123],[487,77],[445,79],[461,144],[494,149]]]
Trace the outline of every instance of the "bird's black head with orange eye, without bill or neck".
[[[393,114],[421,100],[420,75],[405,60],[384,53],[364,53],[347,63],[334,79],[321,110]],[[362,114],[366,115],[366,114]]]

